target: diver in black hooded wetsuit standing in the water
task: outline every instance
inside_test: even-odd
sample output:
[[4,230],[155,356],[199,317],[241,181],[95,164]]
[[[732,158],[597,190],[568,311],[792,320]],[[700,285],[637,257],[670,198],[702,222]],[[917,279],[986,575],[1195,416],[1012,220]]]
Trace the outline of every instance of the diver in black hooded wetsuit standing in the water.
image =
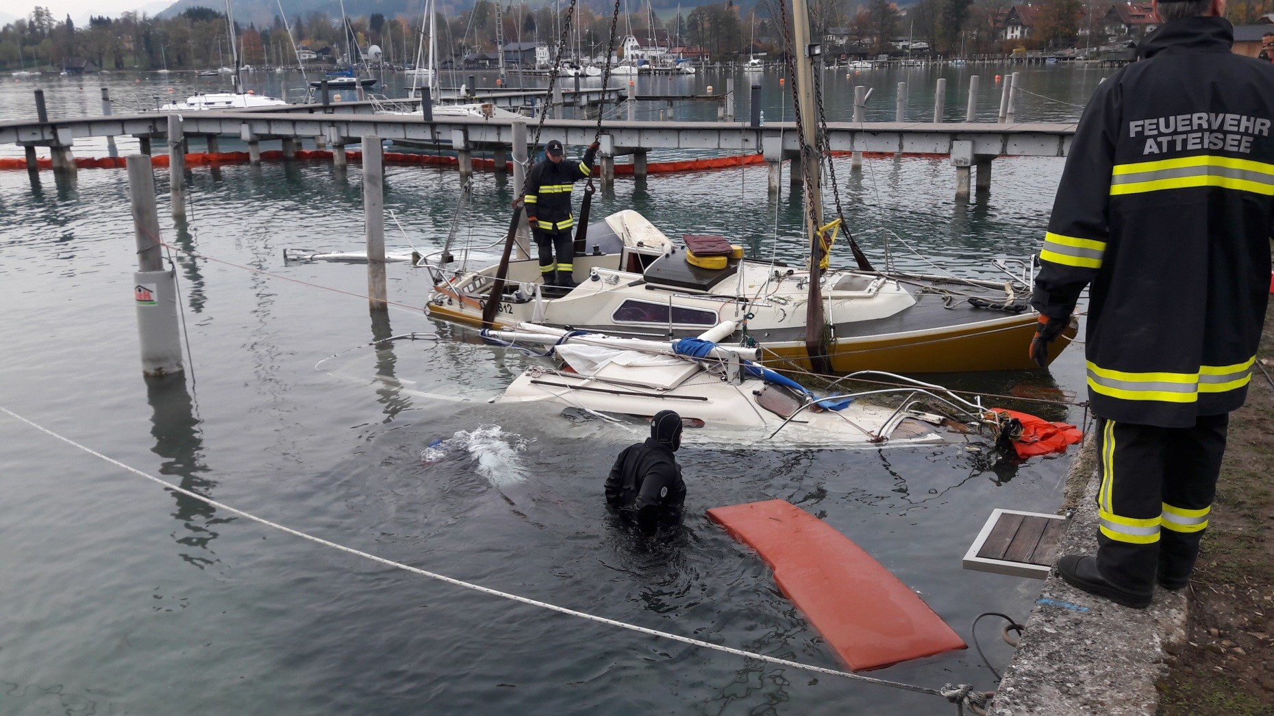
[[682,446],[682,417],[660,410],[651,418],[650,437],[624,448],[606,478],[606,505],[637,522],[647,538],[659,526],[682,521],[685,483],[673,452]]

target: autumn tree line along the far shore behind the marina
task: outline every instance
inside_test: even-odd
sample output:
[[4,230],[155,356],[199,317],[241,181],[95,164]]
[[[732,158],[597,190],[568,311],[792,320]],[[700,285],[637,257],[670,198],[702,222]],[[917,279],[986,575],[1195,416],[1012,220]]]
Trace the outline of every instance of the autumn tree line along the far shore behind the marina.
[[[622,39],[629,33],[645,46],[685,47],[713,61],[754,52],[776,55],[786,48],[780,0],[757,0],[743,13],[733,0],[724,0],[666,18],[652,11],[623,14],[613,43],[613,6],[596,1],[598,9],[582,3],[577,8],[567,33],[567,55],[604,56],[613,46],[622,56]],[[1003,37],[1004,20],[1014,5],[1012,0],[920,0],[899,8],[889,0],[809,0],[809,11],[814,36],[823,39],[824,56],[897,51],[903,46],[901,38],[910,46],[922,41],[926,51],[941,55],[1004,52],[1015,46],[1065,47],[1079,37],[1097,45],[1112,38],[1105,25],[1112,0],[1033,1],[1036,27],[1031,36],[1008,41]],[[1242,24],[1271,9],[1274,0],[1236,0],[1229,14]],[[476,0],[469,10],[452,17],[440,13],[436,18],[442,60],[459,64],[466,56],[493,54],[497,15],[505,42],[554,47],[562,37],[562,18],[554,14],[553,4],[533,8],[511,3],[497,8],[492,0]],[[377,45],[385,61],[406,66],[418,61],[426,25],[419,15],[390,18],[373,13],[343,20],[311,11],[289,22],[275,15],[270,27],[236,23],[233,34],[241,61],[254,66],[296,66],[296,48],[310,50],[320,62],[357,62],[361,55],[357,48],[349,50],[350,43],[364,50]],[[29,17],[0,28],[0,68],[61,69],[73,59],[84,59],[98,69],[213,69],[231,62],[228,37],[225,14],[203,6],[171,18],[138,13],[90,17],[83,27],[70,17],[59,20],[47,8],[37,6]]]

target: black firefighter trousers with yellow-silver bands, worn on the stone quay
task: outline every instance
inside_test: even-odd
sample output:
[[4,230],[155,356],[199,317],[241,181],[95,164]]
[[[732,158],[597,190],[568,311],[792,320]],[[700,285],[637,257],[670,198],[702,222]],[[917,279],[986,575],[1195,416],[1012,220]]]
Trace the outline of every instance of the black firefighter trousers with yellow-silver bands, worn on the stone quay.
[[1097,569],[1124,590],[1185,586],[1217,493],[1229,414],[1191,428],[1097,419]]

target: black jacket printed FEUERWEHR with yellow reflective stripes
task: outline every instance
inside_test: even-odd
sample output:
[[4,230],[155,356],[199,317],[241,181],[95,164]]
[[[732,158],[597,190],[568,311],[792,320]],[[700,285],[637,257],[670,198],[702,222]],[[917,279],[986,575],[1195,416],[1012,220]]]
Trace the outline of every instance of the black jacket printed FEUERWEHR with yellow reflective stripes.
[[1032,304],[1063,319],[1092,283],[1093,412],[1189,427],[1243,404],[1274,223],[1274,65],[1222,18],[1163,24],[1084,108]]

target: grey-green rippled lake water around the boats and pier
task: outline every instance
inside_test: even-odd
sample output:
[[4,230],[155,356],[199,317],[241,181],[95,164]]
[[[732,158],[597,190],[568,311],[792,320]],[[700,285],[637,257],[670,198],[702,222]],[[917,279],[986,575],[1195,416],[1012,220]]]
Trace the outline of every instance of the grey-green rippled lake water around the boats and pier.
[[[963,116],[970,74],[990,118],[1009,68],[941,70],[948,117]],[[1102,73],[1033,69],[1019,118],[1074,120]],[[917,118],[936,70],[831,70],[829,118],[852,84],[871,84],[871,118],[892,118],[898,82]],[[134,79],[141,79],[140,83]],[[269,78],[268,78],[269,79]],[[493,79],[493,78],[492,78]],[[104,80],[104,82],[103,82]],[[747,78],[738,75],[739,87]],[[834,82],[833,82],[834,80]],[[98,113],[107,84],[180,96],[196,78],[111,74],[0,87],[0,117]],[[220,82],[214,78],[214,82]],[[269,79],[269,82],[274,82]],[[294,78],[288,82],[298,84]],[[460,82],[466,82],[461,79]],[[643,80],[645,82],[645,80]],[[766,73],[766,117],[781,117]],[[479,82],[479,84],[485,84]],[[701,92],[725,75],[660,78],[651,90]],[[833,87],[834,84],[834,87]],[[250,85],[252,87],[252,85]],[[276,85],[259,85],[278,93]],[[642,87],[642,92],[647,88]],[[927,92],[927,94],[925,94]],[[659,107],[646,111],[657,112]],[[679,110],[678,118],[715,116]],[[740,106],[740,113],[743,108]],[[135,150],[135,141],[120,150]],[[18,152],[3,148],[9,155]],[[79,155],[99,153],[76,145]],[[104,145],[101,145],[104,153]],[[652,155],[652,161],[660,157]],[[838,164],[866,252],[995,275],[991,257],[1038,248],[1060,159],[1000,159],[992,192],[952,200],[945,159]],[[982,612],[1024,618],[1038,582],[961,568],[990,510],[1051,512],[1066,459],[1020,466],[972,446],[884,451],[687,445],[685,527],[645,543],[604,508],[601,483],[641,426],[490,405],[533,358],[474,340],[419,310],[375,317],[362,266],[284,264],[284,248],[362,246],[361,168],[196,167],[175,255],[190,369],[148,383],[131,298],[132,226],[124,171],[0,173],[0,406],[138,470],[283,525],[484,586],[706,641],[840,668],[771,571],[713,526],[710,507],[781,498],[870,552],[972,646]],[[510,182],[478,175],[456,242],[494,257]],[[438,250],[460,197],[451,169],[390,166],[387,243]],[[594,214],[633,208],[669,236],[724,233],[758,255],[796,257],[799,201],[775,203],[764,167],[620,180]],[[843,250],[843,247],[840,247]],[[912,251],[913,250],[913,251]],[[845,262],[847,254],[838,257]],[[390,298],[424,304],[429,279],[389,270]],[[294,279],[294,280],[288,280]],[[303,283],[301,283],[303,282]],[[368,341],[406,333],[438,340]],[[1026,347],[1023,347],[1026,350]],[[330,361],[326,358],[334,355]],[[952,377],[961,387],[1082,389],[1080,350],[1046,372]],[[317,367],[316,367],[317,366]],[[409,389],[377,381],[415,381]],[[470,397],[446,401],[442,391]],[[996,403],[996,401],[992,401]],[[1040,409],[1078,422],[1078,410]],[[436,441],[441,445],[428,451]],[[394,571],[175,496],[0,414],[0,712],[4,713],[913,713],[936,697],[754,662],[585,622]],[[996,666],[1010,655],[984,623]],[[994,678],[970,648],[871,674],[925,687]],[[953,710],[952,710],[953,712]]]

